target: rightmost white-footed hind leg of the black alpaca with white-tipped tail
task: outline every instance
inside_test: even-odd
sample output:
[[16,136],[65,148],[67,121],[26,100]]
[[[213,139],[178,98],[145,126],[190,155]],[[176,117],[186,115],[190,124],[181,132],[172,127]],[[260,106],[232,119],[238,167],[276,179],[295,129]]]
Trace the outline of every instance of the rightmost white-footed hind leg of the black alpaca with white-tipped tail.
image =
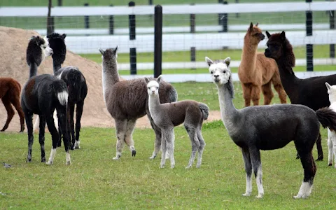
[[[68,125],[68,113],[69,113],[68,110],[64,106],[60,106],[57,109],[59,130],[62,131],[63,144],[64,144],[65,153],[66,153],[65,164],[71,165],[71,158],[70,158],[70,153],[69,153],[69,147],[71,145],[71,142],[69,141],[70,131],[69,131],[69,125]],[[57,143],[58,142],[56,142],[56,144]],[[52,144],[54,144],[53,141],[52,141]]]

